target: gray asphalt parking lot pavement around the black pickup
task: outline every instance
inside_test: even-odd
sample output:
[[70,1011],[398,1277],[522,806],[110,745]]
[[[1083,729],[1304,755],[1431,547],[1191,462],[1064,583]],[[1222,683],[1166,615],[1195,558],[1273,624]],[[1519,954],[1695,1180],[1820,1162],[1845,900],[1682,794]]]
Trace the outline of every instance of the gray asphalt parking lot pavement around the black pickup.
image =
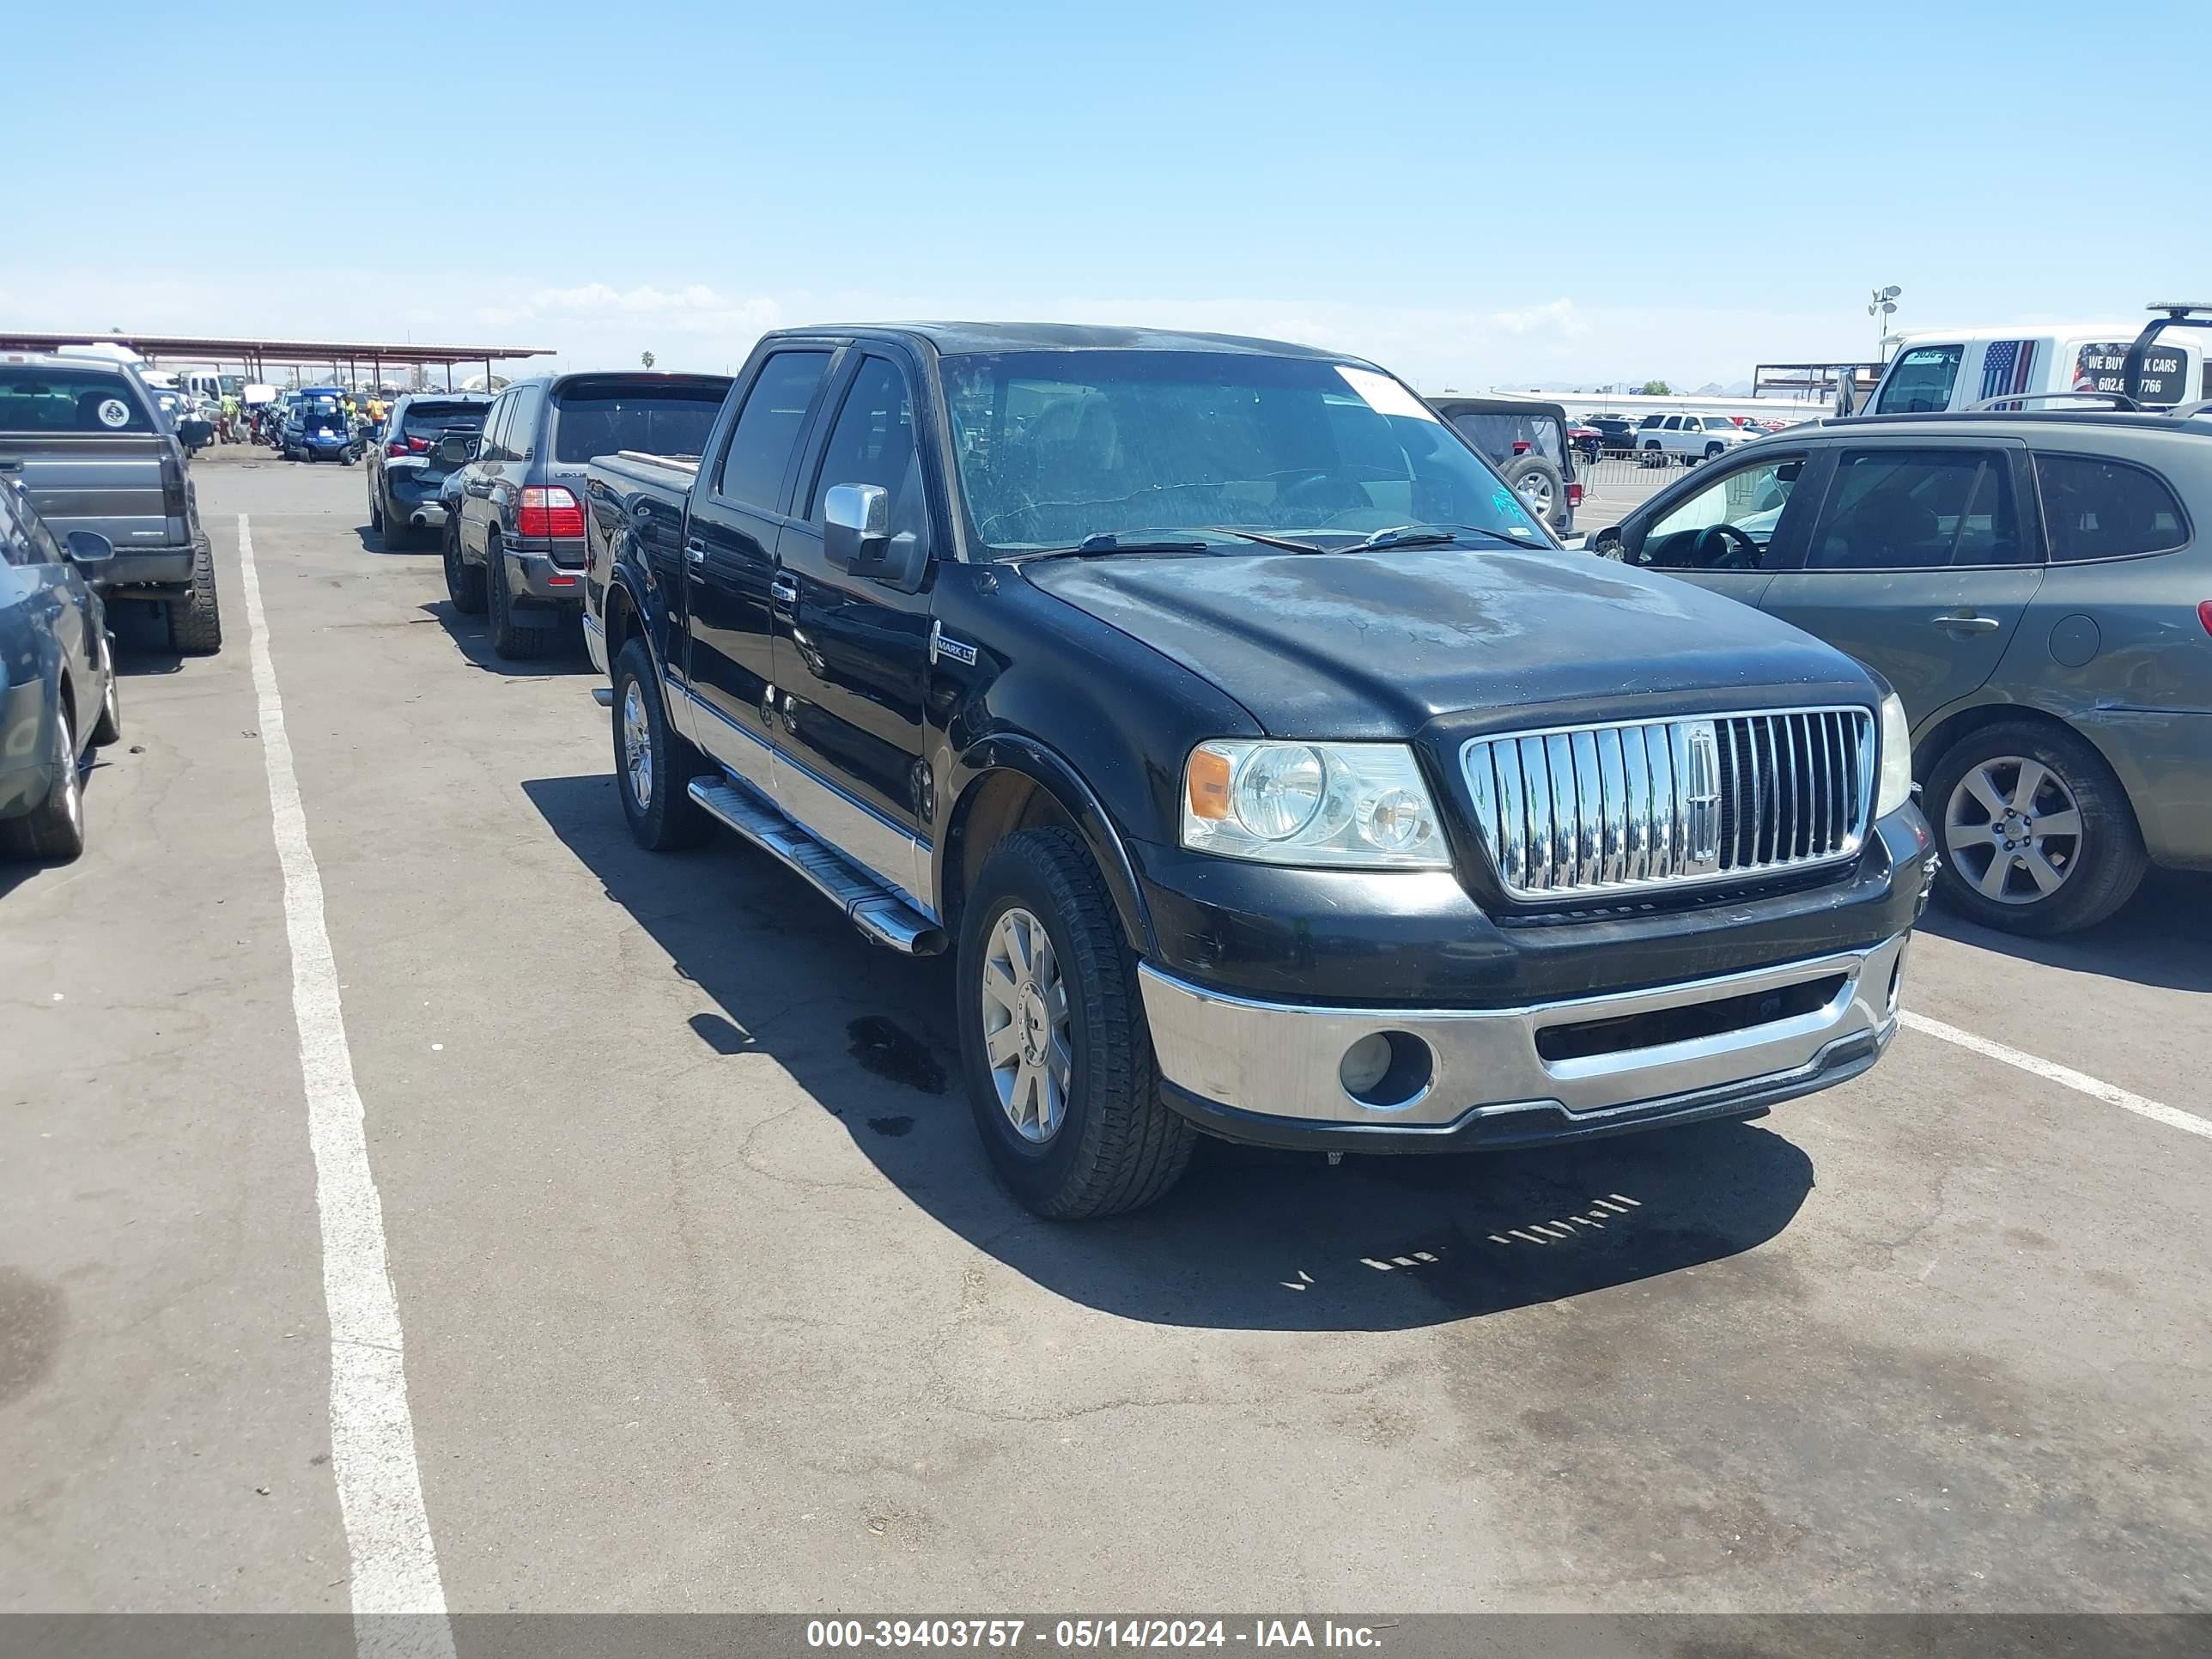
[[1907,1006],[2073,1082],[1916,1029],[1756,1124],[1053,1225],[942,962],[639,852],[582,650],[498,661],[361,469],[197,478],[226,650],[126,617],[91,852],[0,872],[0,1610],[354,1597],[241,522],[456,1613],[2212,1606],[2212,883],[1931,918]]

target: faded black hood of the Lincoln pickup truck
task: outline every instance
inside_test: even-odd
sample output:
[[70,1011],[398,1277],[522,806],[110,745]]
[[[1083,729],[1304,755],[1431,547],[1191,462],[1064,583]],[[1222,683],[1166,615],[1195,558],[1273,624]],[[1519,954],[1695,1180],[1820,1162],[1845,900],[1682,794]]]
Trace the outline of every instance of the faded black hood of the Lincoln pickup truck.
[[[1586,553],[1117,553],[1022,577],[1203,675],[1276,737],[1869,703],[1849,657],[1688,582]],[[1484,719],[1511,717],[1509,721]]]

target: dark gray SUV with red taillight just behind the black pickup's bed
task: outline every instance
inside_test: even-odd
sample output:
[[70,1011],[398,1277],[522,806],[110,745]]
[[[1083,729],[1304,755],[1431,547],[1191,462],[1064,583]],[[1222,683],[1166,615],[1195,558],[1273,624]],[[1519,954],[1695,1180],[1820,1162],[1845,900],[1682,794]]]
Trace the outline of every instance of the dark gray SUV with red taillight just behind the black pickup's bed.
[[728,374],[624,369],[500,392],[445,522],[447,593],[489,611],[495,655],[535,657],[584,613],[584,465],[622,449],[697,458],[728,389]]

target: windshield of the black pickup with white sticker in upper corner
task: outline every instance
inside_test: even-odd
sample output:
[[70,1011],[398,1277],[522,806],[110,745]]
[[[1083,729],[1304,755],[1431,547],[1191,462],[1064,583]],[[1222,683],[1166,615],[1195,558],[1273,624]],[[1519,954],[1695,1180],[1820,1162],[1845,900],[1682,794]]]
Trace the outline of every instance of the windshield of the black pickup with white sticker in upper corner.
[[1093,535],[1345,546],[1464,524],[1551,546],[1411,392],[1349,363],[1243,352],[945,358],[960,484],[993,553]]

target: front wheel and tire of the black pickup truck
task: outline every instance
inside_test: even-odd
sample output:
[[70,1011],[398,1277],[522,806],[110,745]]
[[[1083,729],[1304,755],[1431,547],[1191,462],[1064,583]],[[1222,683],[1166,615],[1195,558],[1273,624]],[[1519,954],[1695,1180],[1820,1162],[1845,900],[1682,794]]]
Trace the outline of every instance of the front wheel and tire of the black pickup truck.
[[984,863],[960,927],[960,1062],[1000,1179],[1055,1219],[1152,1203],[1194,1130],[1159,1097],[1137,967],[1071,830],[1020,830]]

